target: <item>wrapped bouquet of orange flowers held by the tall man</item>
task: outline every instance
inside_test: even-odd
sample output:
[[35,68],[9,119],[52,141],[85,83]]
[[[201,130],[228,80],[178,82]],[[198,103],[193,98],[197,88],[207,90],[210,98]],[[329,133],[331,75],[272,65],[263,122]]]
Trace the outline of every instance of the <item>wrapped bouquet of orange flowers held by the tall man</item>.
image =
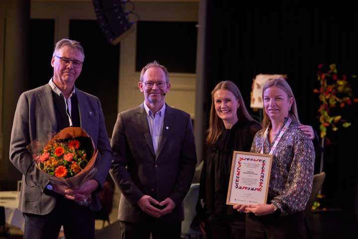
[[39,142],[32,142],[27,150],[41,172],[50,175],[49,180],[55,184],[78,189],[96,172],[97,150],[80,127],[61,130],[44,147]]

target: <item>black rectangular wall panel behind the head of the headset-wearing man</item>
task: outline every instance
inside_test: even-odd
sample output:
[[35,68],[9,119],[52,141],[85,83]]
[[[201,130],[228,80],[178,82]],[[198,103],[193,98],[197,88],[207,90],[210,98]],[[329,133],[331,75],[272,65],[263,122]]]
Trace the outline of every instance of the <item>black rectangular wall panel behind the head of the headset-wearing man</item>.
[[156,60],[165,64],[170,73],[195,74],[196,24],[187,21],[138,21],[136,72],[141,72],[148,62]]

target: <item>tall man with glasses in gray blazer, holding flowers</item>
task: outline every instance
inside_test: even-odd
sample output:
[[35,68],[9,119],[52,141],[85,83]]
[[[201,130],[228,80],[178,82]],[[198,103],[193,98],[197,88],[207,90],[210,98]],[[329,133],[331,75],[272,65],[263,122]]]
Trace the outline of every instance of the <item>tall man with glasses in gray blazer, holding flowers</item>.
[[[23,174],[19,209],[25,217],[24,239],[57,239],[61,226],[66,239],[94,238],[94,211],[100,209],[98,192],[112,152],[99,99],[75,87],[84,58],[79,42],[60,40],[51,60],[54,74],[49,83],[22,93],[17,103],[10,160]],[[52,184],[26,150],[31,142],[47,142],[52,134],[72,126],[82,127],[98,150],[97,172],[81,189]],[[86,198],[85,207],[80,202]]]

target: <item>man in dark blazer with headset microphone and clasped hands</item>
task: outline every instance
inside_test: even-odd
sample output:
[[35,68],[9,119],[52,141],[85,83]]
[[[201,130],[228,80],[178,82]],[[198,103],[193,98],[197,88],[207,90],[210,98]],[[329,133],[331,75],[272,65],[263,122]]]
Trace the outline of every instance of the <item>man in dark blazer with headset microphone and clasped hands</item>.
[[121,238],[180,239],[196,165],[190,115],[165,103],[171,83],[156,61],[143,68],[138,87],[144,102],[118,114],[111,141]]

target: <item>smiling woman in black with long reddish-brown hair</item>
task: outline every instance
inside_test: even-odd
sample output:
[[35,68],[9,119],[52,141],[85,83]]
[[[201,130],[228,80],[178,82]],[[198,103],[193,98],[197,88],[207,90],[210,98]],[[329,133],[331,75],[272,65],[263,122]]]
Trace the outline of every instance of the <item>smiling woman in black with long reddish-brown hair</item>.
[[200,229],[208,239],[244,239],[245,214],[226,205],[231,162],[234,150],[250,151],[254,136],[262,127],[248,113],[233,82],[218,83],[211,97],[197,205]]

